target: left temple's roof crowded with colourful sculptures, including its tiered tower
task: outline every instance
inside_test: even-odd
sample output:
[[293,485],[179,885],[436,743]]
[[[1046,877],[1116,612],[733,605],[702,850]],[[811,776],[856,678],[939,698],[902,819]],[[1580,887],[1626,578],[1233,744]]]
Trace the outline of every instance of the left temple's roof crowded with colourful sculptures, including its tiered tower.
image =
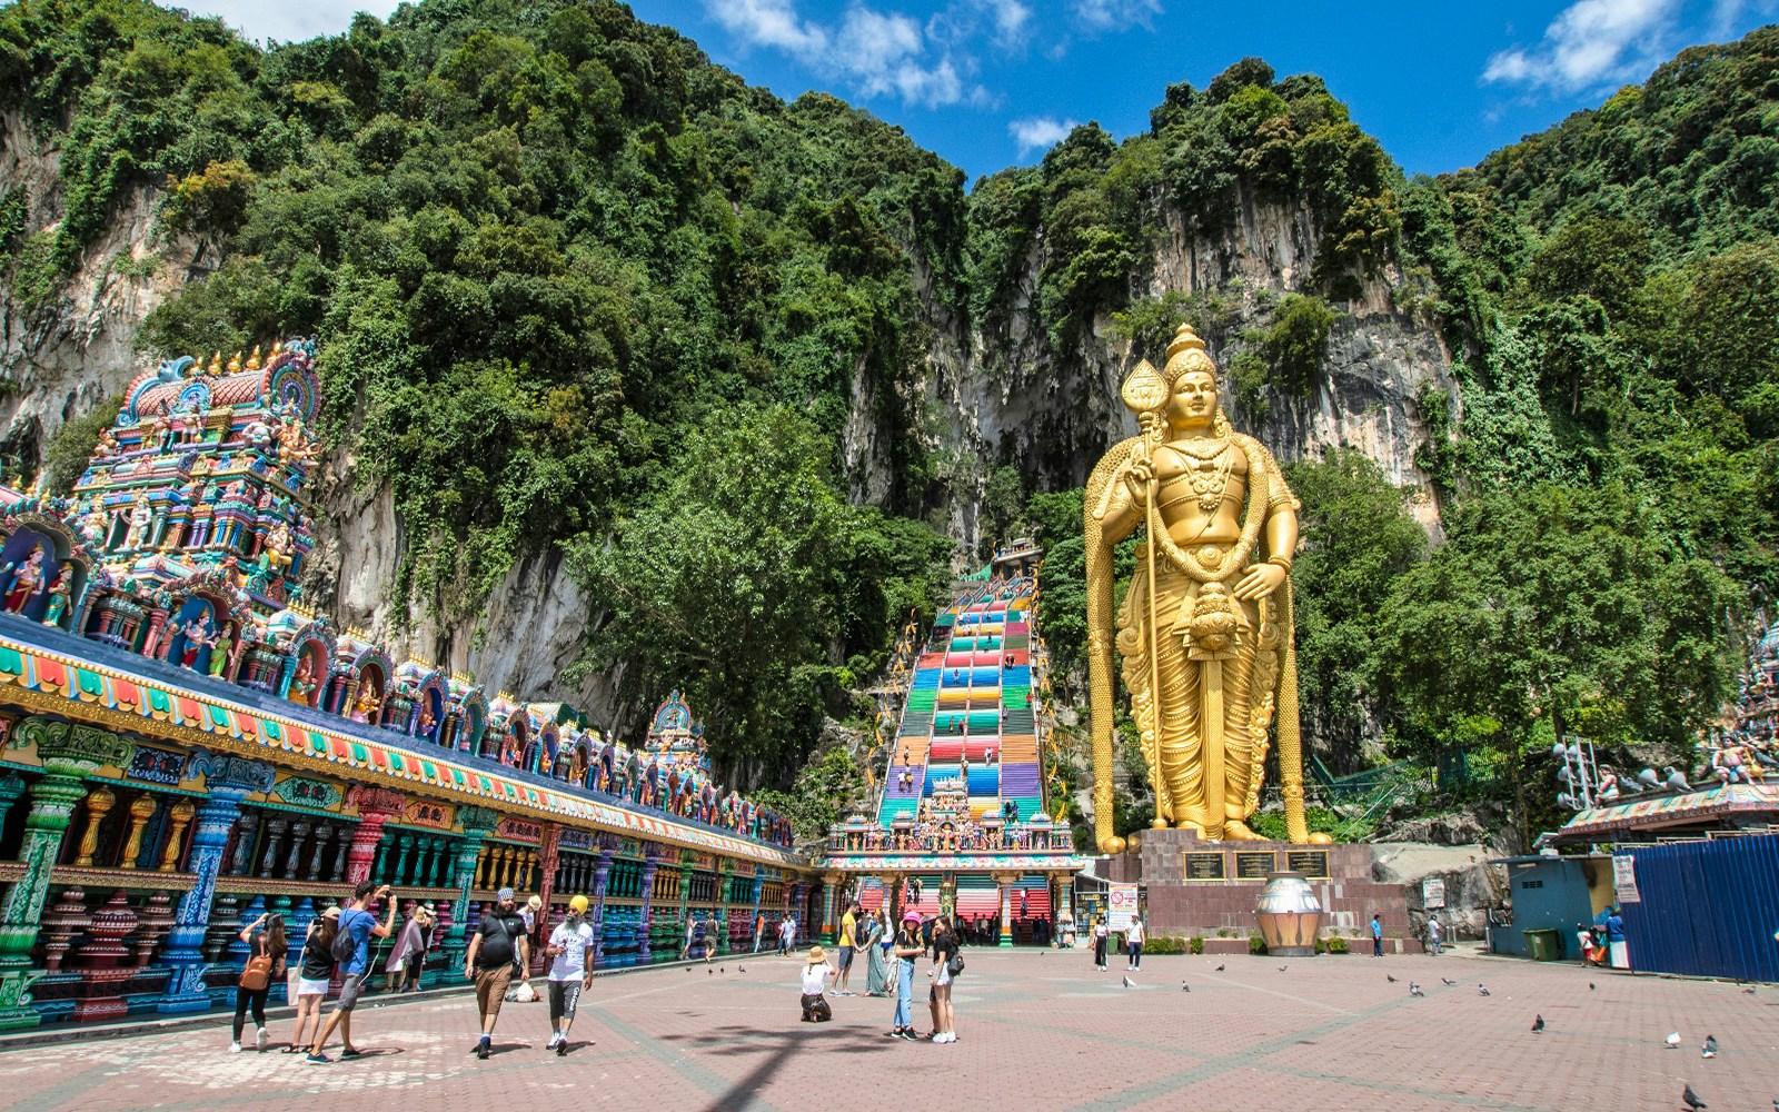
[[311,340],[226,361],[167,359],[137,375],[68,496],[0,486],[4,612],[164,660],[194,685],[310,708],[336,728],[406,735],[790,845],[788,820],[712,781],[703,726],[678,692],[633,749],[560,703],[489,696],[473,676],[423,660],[397,664],[370,633],[308,608],[299,580],[315,548],[318,397]]

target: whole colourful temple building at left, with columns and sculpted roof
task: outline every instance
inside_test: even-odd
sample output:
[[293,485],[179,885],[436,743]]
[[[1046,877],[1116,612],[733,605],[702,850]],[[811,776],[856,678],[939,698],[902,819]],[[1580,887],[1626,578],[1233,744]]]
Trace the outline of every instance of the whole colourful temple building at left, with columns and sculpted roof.
[[[432,904],[434,961],[503,886],[592,898],[598,964],[804,918],[790,824],[710,779],[669,699],[630,749],[302,605],[310,342],[139,375],[66,498],[0,488],[0,1028],[212,1007],[237,932],[354,882]],[[274,996],[283,986],[274,986]]]

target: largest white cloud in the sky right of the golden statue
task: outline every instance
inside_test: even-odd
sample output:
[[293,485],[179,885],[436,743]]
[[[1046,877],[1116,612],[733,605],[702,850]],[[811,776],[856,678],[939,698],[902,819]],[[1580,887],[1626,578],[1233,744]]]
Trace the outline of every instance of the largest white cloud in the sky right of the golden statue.
[[1501,50],[1484,82],[1576,93],[1640,77],[1665,53],[1679,0],[1578,0],[1533,48]]

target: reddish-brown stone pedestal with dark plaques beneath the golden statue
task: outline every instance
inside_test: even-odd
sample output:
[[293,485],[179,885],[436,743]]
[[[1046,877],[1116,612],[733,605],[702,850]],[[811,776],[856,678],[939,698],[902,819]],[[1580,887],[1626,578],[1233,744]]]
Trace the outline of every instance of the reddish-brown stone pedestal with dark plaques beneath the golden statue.
[[[1384,952],[1420,952],[1404,938],[1409,922],[1402,884],[1372,879],[1370,845],[1293,845],[1290,842],[1203,842],[1194,831],[1142,831],[1142,845],[1108,858],[1107,875],[1140,882],[1149,936],[1204,936],[1208,954],[1247,952],[1260,931],[1254,900],[1267,874],[1297,870],[1322,900],[1322,936],[1340,934],[1354,954],[1372,952],[1372,915],[1384,916]],[[1224,931],[1224,945],[1217,932]]]

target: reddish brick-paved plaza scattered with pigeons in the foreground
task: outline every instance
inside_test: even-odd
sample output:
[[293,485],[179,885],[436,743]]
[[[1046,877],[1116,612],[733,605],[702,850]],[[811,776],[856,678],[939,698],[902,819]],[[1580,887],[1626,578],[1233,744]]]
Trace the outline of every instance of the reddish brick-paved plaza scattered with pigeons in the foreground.
[[[1137,986],[1123,987],[1119,961],[1096,973],[1078,950],[966,955],[959,1041],[948,1046],[886,1039],[891,1002],[863,995],[836,998],[833,1023],[799,1023],[797,961],[731,957],[722,973],[713,964],[600,979],[566,1059],[544,1052],[546,1005],[509,1003],[495,1055],[479,1062],[475,1003],[454,995],[361,1007],[356,1041],[370,1053],[334,1066],[276,1050],[231,1055],[226,1016],[9,1050],[0,1107],[1626,1112],[1681,1108],[1690,1082],[1713,1110],[1770,1112],[1779,1096],[1775,987],[1749,995],[1452,954],[1149,957]],[[1411,982],[1427,996],[1411,996]],[[925,970],[916,984],[925,1030]],[[1528,1030],[1535,1014],[1544,1034]],[[276,1048],[290,1021],[270,1027]],[[1679,1050],[1663,1046],[1674,1030]],[[1720,1044],[1711,1060],[1699,1055],[1706,1034]]]

